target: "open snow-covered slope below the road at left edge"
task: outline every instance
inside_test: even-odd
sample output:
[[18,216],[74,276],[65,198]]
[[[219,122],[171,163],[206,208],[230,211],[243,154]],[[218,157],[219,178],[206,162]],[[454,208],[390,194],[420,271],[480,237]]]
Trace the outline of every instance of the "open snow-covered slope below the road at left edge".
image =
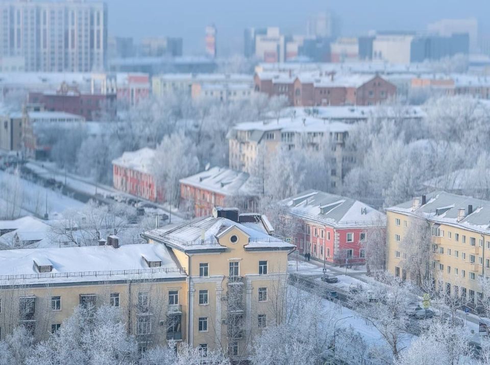
[[[0,171],[0,179],[5,178],[6,174],[6,172]],[[47,207],[49,217],[53,218],[67,209],[80,209],[84,206],[84,203],[64,196],[60,191],[45,188],[24,179],[19,179],[19,181],[23,191],[21,212],[24,214],[42,217]]]

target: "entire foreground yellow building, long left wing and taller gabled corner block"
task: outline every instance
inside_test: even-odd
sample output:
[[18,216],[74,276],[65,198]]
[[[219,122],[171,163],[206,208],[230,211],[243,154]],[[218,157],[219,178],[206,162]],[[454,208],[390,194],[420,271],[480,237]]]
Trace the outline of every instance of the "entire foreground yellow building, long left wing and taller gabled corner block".
[[246,358],[280,322],[295,247],[238,211],[143,234],[148,244],[0,251],[0,337],[22,325],[41,340],[74,308],[119,307],[141,348],[167,339]]

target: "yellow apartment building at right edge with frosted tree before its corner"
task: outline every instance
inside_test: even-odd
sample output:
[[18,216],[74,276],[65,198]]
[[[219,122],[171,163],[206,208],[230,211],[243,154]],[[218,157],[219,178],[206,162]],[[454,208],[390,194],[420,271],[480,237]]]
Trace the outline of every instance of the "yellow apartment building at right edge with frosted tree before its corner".
[[[406,278],[406,239],[427,224],[428,270],[440,288],[477,304],[478,280],[490,272],[490,202],[436,191],[386,210],[388,271]],[[420,221],[419,221],[420,222]],[[420,229],[420,225],[419,225]]]

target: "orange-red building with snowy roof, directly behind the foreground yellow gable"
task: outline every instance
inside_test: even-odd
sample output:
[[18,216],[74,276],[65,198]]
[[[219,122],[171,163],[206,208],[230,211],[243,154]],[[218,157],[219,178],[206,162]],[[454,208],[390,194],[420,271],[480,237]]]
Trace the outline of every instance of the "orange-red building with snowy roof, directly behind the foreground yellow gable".
[[180,197],[197,217],[211,215],[215,206],[255,211],[261,184],[247,173],[212,167],[180,180]]

